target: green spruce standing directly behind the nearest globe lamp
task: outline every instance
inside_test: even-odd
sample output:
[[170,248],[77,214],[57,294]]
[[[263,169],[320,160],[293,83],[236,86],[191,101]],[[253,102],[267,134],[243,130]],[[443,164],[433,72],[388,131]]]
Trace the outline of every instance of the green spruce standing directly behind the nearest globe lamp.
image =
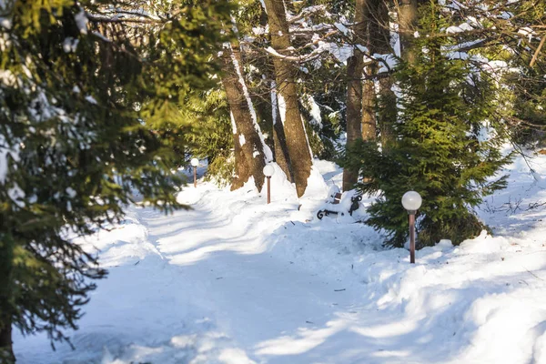
[[[449,49],[448,38],[426,36],[446,27],[442,16],[437,5],[423,6],[413,57],[395,74],[400,90],[396,142],[383,151],[375,143],[360,143],[348,152],[349,166],[358,167],[363,177],[361,190],[379,192],[367,223],[385,229],[392,246],[408,238],[407,212],[400,203],[406,191],[423,197],[417,217],[420,246],[441,238],[458,244],[484,228],[472,207],[505,185],[505,177],[495,178],[509,157],[499,151],[494,85],[470,59],[442,52],[442,46]],[[486,122],[498,127],[483,137]]]

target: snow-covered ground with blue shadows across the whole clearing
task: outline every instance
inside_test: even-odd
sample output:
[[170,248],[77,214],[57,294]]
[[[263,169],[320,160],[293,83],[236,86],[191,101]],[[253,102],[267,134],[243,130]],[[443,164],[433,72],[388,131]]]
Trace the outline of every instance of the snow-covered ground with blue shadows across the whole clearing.
[[546,202],[546,157],[531,164],[534,177],[517,158],[480,208],[494,237],[421,249],[415,265],[353,217],[315,217],[319,173],[340,184],[328,162],[301,199],[277,173],[269,205],[251,185],[199,183],[178,196],[190,211],[131,207],[78,241],[110,274],[76,350],[17,333],[18,362],[546,363],[546,205],[532,205]]

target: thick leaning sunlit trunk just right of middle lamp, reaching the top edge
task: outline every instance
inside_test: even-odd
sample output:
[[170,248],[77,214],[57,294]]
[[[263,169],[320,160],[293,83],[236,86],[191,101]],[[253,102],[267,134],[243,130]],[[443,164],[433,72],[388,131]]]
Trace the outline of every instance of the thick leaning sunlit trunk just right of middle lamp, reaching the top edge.
[[[282,0],[265,0],[268,13],[271,45],[279,54],[286,54],[290,35]],[[284,126],[294,182],[298,197],[303,196],[311,174],[312,158],[303,119],[299,114],[298,89],[295,82],[296,68],[281,57],[273,59],[278,86],[278,106]]]

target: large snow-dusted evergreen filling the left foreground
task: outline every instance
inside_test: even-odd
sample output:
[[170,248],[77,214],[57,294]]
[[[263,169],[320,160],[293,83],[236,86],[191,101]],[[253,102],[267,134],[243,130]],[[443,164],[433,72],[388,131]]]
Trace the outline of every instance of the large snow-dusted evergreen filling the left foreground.
[[180,207],[178,99],[210,84],[230,6],[125,5],[2,3],[0,362],[15,360],[12,325],[66,340],[105,277],[70,236],[116,221],[135,193]]

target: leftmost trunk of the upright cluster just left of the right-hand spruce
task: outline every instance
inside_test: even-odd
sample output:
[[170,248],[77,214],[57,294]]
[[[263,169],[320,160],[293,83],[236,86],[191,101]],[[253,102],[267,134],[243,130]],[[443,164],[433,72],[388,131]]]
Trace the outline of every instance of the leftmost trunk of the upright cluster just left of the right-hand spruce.
[[[356,0],[355,26],[353,28],[353,55],[347,61],[347,142],[346,149],[362,137],[362,73],[364,71],[364,55],[357,45],[368,42],[367,25],[369,21],[368,0]],[[343,190],[353,188],[359,179],[359,171],[350,168],[343,169]]]

